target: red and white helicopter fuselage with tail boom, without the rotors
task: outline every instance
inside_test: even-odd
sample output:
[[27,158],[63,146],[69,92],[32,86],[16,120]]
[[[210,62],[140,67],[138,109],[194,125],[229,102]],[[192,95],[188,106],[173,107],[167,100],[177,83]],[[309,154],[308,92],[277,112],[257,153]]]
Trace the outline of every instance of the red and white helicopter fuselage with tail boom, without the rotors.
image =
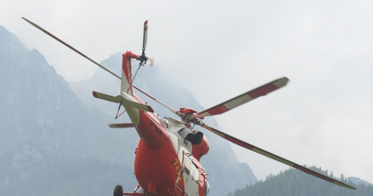
[[[131,77],[131,61],[128,57],[135,55],[128,53],[130,52],[123,54],[122,76],[128,74]],[[125,78],[122,77],[123,80]],[[122,83],[123,86],[126,85]],[[120,92],[123,97],[145,105],[134,93],[128,96],[123,90],[126,90],[126,87]],[[186,134],[179,134],[180,131],[183,131],[183,134],[185,131],[198,132],[191,130],[188,124],[173,118],[167,118],[164,122],[155,113],[123,106],[127,108],[126,112],[140,136],[135,152],[134,173],[144,192],[148,195],[200,196],[208,193],[206,173],[199,162],[201,156],[209,150],[206,136],[203,136],[200,144],[193,144],[190,139],[185,139]]]

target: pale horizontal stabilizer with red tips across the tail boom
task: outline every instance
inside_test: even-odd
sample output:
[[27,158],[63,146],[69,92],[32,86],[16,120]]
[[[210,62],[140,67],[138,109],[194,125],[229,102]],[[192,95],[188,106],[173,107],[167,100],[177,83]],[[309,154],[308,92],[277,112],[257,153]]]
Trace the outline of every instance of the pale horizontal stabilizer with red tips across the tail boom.
[[94,97],[96,97],[98,99],[103,99],[103,100],[113,102],[113,103],[122,102],[123,106],[129,106],[129,107],[133,107],[133,108],[136,108],[136,109],[139,109],[139,110],[144,110],[144,111],[152,112],[152,113],[154,112],[153,108],[151,108],[150,106],[142,104],[142,103],[137,103],[137,102],[127,100],[121,95],[118,95],[118,96],[114,97],[114,96],[104,94],[104,93],[99,93],[99,92],[96,92],[96,91],[92,91],[92,94],[93,94]]

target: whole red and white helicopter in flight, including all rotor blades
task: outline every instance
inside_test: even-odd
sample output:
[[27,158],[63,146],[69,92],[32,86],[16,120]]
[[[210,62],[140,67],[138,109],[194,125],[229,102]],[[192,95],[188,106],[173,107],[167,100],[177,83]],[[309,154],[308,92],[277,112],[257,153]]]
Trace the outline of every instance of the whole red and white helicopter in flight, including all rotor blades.
[[[134,174],[138,185],[135,187],[133,192],[123,192],[122,186],[117,185],[113,192],[114,196],[207,196],[210,191],[210,185],[207,181],[208,174],[201,165],[200,159],[209,152],[210,144],[203,132],[194,130],[195,125],[201,126],[233,144],[294,167],[304,173],[326,180],[338,186],[356,189],[355,187],[339,180],[296,164],[203,123],[202,120],[205,117],[228,112],[229,110],[250,102],[253,99],[265,96],[272,91],[285,87],[289,81],[287,77],[273,80],[257,87],[256,89],[242,93],[232,99],[226,100],[225,102],[209,107],[200,112],[188,107],[181,107],[179,110],[175,110],[133,85],[135,76],[140,67],[145,64],[150,66],[153,65],[153,59],[145,55],[148,20],[144,22],[141,55],[134,54],[131,51],[124,52],[122,59],[122,76],[119,77],[112,71],[93,61],[91,58],[66,44],[25,17],[22,17],[22,19],[121,80],[120,91],[116,96],[96,91],[92,92],[95,98],[119,104],[115,119],[124,112],[126,112],[131,119],[131,123],[109,124],[111,128],[134,127],[140,137],[138,147],[135,151],[134,163]],[[131,65],[132,60],[140,61],[133,76]],[[163,105],[175,115],[179,116],[179,119],[165,117],[166,121],[164,121],[159,117],[159,114],[154,113],[154,110],[151,106],[147,105],[147,102],[144,103],[134,93],[133,89],[137,89],[150,99]],[[120,107],[122,106],[125,110],[119,114]]]

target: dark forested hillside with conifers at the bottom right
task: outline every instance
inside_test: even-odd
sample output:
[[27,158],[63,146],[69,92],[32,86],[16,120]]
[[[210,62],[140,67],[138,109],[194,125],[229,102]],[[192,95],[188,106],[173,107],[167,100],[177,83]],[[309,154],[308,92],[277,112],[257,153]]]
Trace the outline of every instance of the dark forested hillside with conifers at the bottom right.
[[325,180],[317,179],[294,168],[281,171],[277,175],[270,174],[266,180],[257,181],[255,184],[247,185],[244,189],[238,189],[228,196],[372,196],[373,186],[352,181],[341,174],[338,178],[333,172],[322,170],[321,167],[310,167],[324,175],[334,177],[342,182],[348,183],[356,190],[339,187]]

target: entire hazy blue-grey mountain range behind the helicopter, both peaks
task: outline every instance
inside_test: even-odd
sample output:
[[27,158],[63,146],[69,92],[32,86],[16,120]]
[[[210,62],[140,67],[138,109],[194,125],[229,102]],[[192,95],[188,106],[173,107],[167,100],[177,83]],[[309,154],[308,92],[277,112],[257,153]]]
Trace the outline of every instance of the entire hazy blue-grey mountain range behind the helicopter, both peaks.
[[[120,54],[102,63],[115,70],[118,60],[120,67]],[[133,129],[109,128],[108,123],[129,119],[123,115],[115,121],[117,105],[92,97],[92,90],[118,93],[119,80],[105,74],[98,70],[90,80],[71,83],[77,95],[43,55],[28,50],[0,26],[2,195],[111,195],[116,184],[129,192],[135,188],[132,172],[138,135]],[[135,84],[173,108],[202,109],[188,91],[170,85],[163,74],[142,68]],[[94,79],[98,81],[91,83]],[[147,97],[141,98],[161,114],[173,115]],[[218,128],[213,118],[206,122]],[[204,133],[211,148],[201,162],[211,174],[211,195],[225,195],[256,181],[228,142]]]

